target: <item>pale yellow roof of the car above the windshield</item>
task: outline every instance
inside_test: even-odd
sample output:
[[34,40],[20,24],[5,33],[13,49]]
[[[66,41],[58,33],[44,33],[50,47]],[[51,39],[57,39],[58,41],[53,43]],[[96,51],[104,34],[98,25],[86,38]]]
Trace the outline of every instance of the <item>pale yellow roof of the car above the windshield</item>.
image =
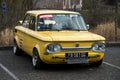
[[66,11],[66,10],[30,10],[27,11],[27,14],[34,14],[34,15],[40,15],[40,14],[57,14],[57,13],[65,13],[65,14],[80,14],[78,12],[74,11]]

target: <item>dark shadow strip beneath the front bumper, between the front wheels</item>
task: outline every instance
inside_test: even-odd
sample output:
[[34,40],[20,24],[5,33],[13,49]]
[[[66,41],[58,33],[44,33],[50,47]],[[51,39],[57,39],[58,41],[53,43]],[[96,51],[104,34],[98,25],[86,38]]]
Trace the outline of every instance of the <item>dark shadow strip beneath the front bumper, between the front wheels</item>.
[[88,64],[46,64],[44,67],[39,68],[39,71],[86,71],[94,70],[96,67],[91,67]]

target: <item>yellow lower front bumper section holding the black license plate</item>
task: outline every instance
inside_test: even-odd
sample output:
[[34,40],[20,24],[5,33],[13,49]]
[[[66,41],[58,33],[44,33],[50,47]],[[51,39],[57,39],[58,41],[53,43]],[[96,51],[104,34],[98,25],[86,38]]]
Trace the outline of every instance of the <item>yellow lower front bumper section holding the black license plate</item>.
[[[87,55],[82,55],[87,53]],[[72,54],[66,57],[66,54]],[[74,55],[73,55],[74,54]],[[82,56],[79,56],[82,55]],[[43,55],[42,61],[47,64],[82,64],[82,63],[94,63],[103,59],[103,52],[93,51],[73,51],[73,52],[59,52]]]

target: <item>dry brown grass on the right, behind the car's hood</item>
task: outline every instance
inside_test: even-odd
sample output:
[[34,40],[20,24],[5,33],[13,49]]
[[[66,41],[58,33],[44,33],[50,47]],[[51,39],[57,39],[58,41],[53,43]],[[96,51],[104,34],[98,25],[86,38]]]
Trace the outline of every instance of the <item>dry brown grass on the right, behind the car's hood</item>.
[[[100,24],[96,28],[91,29],[91,32],[102,35],[107,41],[115,41],[115,23]],[[120,41],[120,29],[117,28],[117,40]]]

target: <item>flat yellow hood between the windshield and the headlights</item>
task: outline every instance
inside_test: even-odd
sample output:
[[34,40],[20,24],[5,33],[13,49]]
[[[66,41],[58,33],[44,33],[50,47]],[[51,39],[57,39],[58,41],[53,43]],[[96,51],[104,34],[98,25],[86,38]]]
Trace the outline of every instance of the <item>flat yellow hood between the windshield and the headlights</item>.
[[105,40],[104,37],[88,31],[45,31],[38,32],[52,41],[96,41]]

